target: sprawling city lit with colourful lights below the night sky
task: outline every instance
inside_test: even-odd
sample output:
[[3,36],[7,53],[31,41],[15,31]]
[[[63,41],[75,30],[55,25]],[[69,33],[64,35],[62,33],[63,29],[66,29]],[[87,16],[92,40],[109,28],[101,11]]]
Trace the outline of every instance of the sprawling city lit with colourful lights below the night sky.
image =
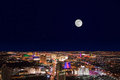
[[119,80],[119,58],[120,51],[0,52],[0,79]]

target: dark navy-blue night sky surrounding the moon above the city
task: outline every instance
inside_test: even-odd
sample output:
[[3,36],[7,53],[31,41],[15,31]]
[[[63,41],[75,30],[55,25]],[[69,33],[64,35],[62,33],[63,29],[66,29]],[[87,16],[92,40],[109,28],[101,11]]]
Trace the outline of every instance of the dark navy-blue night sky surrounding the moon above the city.
[[120,50],[119,2],[2,0],[0,50]]

